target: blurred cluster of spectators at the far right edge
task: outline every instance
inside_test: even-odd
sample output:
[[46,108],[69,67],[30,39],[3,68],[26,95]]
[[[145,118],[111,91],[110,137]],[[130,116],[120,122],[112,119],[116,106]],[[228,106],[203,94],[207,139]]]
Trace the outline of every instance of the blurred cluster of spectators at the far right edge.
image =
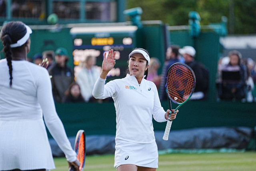
[[237,50],[229,52],[228,57],[218,62],[216,87],[218,99],[253,102],[256,66],[251,58],[242,58]]

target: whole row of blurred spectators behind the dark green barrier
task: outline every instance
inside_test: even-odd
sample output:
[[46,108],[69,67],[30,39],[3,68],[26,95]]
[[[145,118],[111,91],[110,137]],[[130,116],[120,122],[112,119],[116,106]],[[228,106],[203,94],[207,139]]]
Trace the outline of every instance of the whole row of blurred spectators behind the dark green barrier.
[[[35,54],[31,62],[40,64],[48,60],[47,68],[51,81],[54,101],[58,103],[75,102],[99,102],[92,96],[92,89],[99,76],[96,58],[86,56],[80,62],[82,68],[74,77],[74,70],[67,65],[68,52],[65,48],[58,48],[44,51],[42,54]],[[205,100],[208,98],[210,72],[204,64],[196,61],[196,50],[192,46],[172,45],[166,50],[165,62],[161,74],[159,68],[161,63],[158,58],[152,57],[148,68],[148,78],[156,84],[161,100],[166,100],[165,74],[172,64],[184,63],[194,71],[196,76],[196,89],[190,98],[191,100]],[[218,61],[216,89],[218,100],[230,101],[255,101],[254,84],[256,83],[256,63],[251,58],[242,58],[240,52],[230,51],[227,57]],[[109,101],[109,100],[108,100]]]

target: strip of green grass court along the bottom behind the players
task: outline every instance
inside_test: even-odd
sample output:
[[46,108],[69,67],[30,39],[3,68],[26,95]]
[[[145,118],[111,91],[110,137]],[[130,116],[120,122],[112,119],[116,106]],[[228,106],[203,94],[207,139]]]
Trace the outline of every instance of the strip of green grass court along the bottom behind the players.
[[[54,158],[55,171],[67,171],[65,158]],[[114,155],[86,157],[85,171],[116,171]],[[256,171],[256,152],[171,153],[159,155],[157,171]]]

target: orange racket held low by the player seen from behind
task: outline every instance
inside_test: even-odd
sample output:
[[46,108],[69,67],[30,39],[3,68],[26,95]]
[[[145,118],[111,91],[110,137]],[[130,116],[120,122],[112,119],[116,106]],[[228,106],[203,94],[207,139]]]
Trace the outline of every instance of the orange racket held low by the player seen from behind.
[[[80,162],[79,171],[84,170],[85,157],[86,157],[86,144],[85,144],[85,132],[79,130],[76,134],[76,140],[74,145],[74,151],[76,151],[77,159]],[[75,171],[75,167],[71,166],[69,171]]]

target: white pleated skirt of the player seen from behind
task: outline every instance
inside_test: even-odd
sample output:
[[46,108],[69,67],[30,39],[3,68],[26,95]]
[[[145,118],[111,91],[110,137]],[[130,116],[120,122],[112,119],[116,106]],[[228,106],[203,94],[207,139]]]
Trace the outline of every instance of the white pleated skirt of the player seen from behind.
[[43,119],[0,120],[0,170],[55,169]]

